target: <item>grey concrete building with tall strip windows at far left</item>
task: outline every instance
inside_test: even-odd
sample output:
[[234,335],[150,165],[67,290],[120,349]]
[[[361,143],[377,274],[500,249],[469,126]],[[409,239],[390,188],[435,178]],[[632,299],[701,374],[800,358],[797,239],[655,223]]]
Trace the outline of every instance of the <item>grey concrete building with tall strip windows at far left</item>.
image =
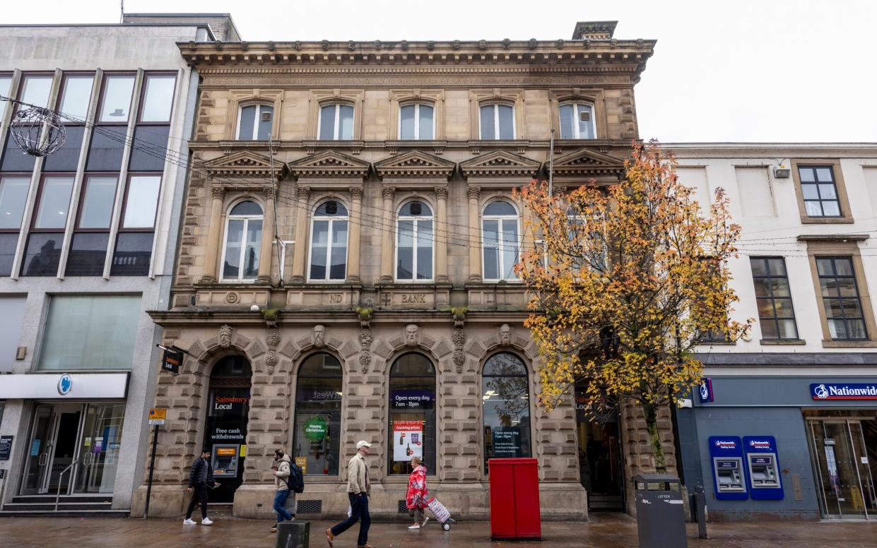
[[2,513],[131,506],[198,84],[176,43],[227,37],[217,14],[0,25],[0,95],[66,127],[28,156],[10,132],[28,107],[0,102]]

